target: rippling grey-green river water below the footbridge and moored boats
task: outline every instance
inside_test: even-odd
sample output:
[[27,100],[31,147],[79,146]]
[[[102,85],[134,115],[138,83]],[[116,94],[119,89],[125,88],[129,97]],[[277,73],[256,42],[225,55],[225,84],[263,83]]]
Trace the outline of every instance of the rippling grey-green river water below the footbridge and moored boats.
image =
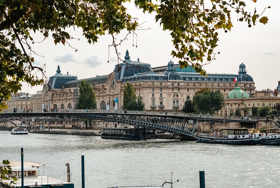
[[[81,155],[85,156],[85,187],[161,186],[198,188],[199,171],[206,187],[280,187],[280,147],[204,144],[179,140],[108,140],[94,136],[28,134],[0,131],[0,161],[24,161],[66,172],[81,188]],[[42,170],[40,170],[42,174]],[[176,180],[179,180],[177,182]],[[170,187],[165,184],[164,187]]]

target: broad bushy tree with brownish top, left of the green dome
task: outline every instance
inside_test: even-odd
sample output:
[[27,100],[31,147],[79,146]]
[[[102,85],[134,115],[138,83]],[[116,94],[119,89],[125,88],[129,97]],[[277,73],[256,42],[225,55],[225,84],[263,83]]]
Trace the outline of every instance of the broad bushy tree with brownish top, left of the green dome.
[[214,115],[225,107],[225,99],[220,90],[212,91],[204,87],[195,92],[193,107],[196,113]]

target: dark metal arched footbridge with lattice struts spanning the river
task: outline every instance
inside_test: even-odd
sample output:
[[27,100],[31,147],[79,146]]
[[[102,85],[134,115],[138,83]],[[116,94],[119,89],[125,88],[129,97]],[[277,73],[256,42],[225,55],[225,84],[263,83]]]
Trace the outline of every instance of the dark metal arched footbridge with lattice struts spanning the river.
[[233,119],[228,117],[208,116],[185,113],[157,113],[150,111],[107,111],[107,110],[49,110],[48,112],[24,113],[18,110],[2,110],[1,118],[10,117],[58,117],[58,118],[84,118],[133,126],[148,126],[179,135],[182,139],[194,139],[197,123],[199,121],[243,122],[255,124],[250,119]]

